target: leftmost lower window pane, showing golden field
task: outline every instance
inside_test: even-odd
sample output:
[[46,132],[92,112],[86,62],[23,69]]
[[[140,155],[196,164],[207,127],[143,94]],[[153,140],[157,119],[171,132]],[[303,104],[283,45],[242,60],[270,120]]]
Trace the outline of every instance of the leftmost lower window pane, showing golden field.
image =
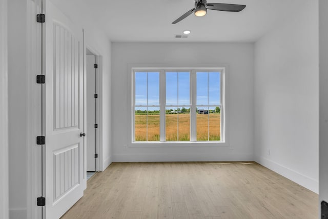
[[135,107],[134,136],[136,142],[147,141],[147,108]]

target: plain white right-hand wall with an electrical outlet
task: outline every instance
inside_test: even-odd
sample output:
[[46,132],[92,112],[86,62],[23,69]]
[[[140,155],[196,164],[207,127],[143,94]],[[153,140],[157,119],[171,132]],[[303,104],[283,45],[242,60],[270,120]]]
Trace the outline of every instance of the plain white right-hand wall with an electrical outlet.
[[318,1],[295,5],[290,18],[255,44],[255,161],[314,192],[318,58]]

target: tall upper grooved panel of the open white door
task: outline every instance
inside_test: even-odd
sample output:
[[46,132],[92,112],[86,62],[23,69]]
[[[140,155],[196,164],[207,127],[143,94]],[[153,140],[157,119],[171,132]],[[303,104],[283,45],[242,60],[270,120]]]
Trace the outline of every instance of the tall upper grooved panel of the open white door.
[[80,41],[54,23],[55,129],[78,126],[78,82],[82,60]]

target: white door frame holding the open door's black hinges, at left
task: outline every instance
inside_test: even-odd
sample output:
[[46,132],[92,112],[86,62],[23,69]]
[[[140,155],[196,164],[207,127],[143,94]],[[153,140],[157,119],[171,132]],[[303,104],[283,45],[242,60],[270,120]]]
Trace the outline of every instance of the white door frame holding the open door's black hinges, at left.
[[[36,84],[36,75],[45,72],[41,53],[42,44],[45,42],[45,28],[36,23],[36,14],[42,13],[45,0],[27,1],[27,218],[42,218],[43,207],[36,205],[36,198],[42,196],[42,146],[36,145],[36,136],[40,135],[42,126],[40,115],[43,113],[41,87]],[[43,39],[43,41],[42,41]],[[45,87],[43,86],[43,92]],[[45,103],[45,102],[43,102]],[[45,109],[45,107],[43,107]],[[43,127],[44,127],[43,123]],[[45,150],[43,151],[45,152]],[[43,157],[45,157],[43,155]],[[45,168],[44,168],[45,169]]]

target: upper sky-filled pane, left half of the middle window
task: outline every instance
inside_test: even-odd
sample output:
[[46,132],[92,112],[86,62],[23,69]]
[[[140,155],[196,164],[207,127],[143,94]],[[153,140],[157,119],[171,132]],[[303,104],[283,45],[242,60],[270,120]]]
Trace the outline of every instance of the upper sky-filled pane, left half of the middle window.
[[166,72],[166,105],[178,105],[178,73]]

